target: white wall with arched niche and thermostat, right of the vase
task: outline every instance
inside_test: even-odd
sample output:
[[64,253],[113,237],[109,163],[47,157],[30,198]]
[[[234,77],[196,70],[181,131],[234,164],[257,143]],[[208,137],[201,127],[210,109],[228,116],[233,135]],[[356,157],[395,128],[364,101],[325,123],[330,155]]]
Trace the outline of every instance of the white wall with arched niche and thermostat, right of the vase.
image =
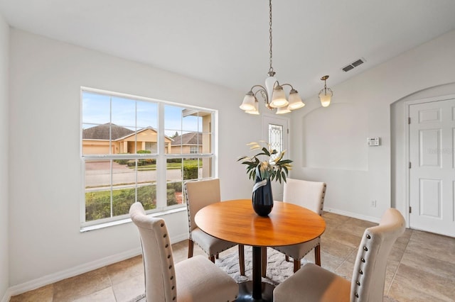
[[[390,107],[425,89],[414,98],[454,94],[451,85],[430,89],[455,83],[454,53],[451,31],[342,84],[329,84],[334,96],[328,108],[317,96],[306,100],[291,113],[292,177],[326,181],[325,208],[338,213],[378,221],[391,204],[404,213],[403,101],[392,113]],[[381,145],[367,147],[370,137],[380,137]]]

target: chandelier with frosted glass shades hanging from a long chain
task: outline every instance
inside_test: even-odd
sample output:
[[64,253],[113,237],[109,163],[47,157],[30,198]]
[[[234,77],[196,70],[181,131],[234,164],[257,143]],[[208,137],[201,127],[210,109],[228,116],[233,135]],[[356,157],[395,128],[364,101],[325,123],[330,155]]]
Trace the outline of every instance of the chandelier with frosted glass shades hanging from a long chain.
[[[305,106],[301,101],[299,92],[294,89],[291,84],[279,84],[275,77],[275,72],[272,67],[272,0],[269,0],[269,72],[265,79],[265,87],[262,85],[254,85],[247,92],[243,99],[240,109],[250,114],[259,114],[259,101],[257,94],[264,99],[264,104],[270,110],[277,109],[277,114],[289,113],[291,110]],[[284,92],[284,87],[290,87],[288,99]]]

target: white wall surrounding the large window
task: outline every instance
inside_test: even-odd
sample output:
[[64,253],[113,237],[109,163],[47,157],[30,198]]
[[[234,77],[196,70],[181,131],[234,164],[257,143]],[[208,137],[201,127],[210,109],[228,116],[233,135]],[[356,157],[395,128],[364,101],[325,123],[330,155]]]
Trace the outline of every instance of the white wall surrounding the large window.
[[[242,93],[20,30],[10,43],[13,291],[139,252],[132,223],[79,231],[80,86],[218,109],[222,198],[251,195],[236,159],[260,138],[261,120],[240,111]],[[173,242],[187,237],[185,212],[165,219]]]

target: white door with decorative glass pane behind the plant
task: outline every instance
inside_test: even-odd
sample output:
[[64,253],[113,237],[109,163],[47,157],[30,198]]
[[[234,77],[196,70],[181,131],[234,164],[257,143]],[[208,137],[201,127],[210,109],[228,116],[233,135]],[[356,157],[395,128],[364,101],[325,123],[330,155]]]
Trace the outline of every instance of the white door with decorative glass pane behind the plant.
[[[262,140],[269,142],[271,147],[276,149],[278,152],[288,149],[288,119],[287,118],[275,118],[272,116],[262,116]],[[289,154],[285,155],[285,158]],[[283,200],[283,183],[274,181],[272,183],[272,194],[276,201]]]

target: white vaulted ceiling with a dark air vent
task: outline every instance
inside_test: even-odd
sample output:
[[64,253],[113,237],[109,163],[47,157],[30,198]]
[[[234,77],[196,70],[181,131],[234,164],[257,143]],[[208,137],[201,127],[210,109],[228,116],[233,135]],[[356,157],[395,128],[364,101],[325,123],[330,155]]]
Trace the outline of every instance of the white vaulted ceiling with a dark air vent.
[[[324,74],[338,84],[455,29],[454,0],[272,6],[276,77],[304,98]],[[14,28],[239,91],[264,84],[269,70],[267,0],[0,0],[0,11]],[[358,58],[365,63],[341,70]]]

